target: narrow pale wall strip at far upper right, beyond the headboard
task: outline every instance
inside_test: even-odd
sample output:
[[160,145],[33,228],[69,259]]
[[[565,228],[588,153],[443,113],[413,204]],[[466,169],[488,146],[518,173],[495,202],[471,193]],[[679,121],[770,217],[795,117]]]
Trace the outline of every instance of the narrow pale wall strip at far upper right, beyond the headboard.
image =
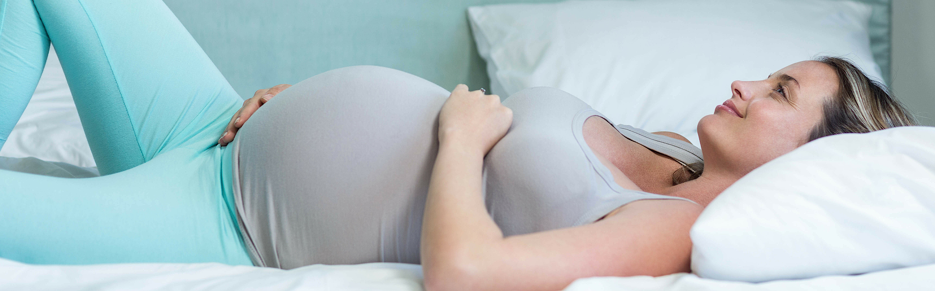
[[892,90],[935,126],[935,0],[893,0]]

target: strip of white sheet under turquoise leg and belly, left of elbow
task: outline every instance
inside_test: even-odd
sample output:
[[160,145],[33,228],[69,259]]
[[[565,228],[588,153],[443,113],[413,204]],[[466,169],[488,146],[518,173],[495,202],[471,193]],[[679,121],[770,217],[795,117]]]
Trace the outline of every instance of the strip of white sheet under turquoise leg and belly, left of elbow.
[[281,270],[220,263],[27,265],[0,258],[0,291],[422,289],[422,267],[401,263],[311,265]]

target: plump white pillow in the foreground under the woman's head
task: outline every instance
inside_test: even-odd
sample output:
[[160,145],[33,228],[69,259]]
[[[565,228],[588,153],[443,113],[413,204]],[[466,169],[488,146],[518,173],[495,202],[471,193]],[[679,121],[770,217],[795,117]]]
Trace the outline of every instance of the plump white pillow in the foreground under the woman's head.
[[801,146],[728,187],[691,237],[692,270],[718,280],[935,263],[935,127],[839,134]]

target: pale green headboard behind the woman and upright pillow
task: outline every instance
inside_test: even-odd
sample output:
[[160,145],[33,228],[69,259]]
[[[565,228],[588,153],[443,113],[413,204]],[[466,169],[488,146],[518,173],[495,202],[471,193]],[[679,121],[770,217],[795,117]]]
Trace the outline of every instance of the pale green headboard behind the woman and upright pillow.
[[[164,0],[243,98],[357,64],[399,69],[451,90],[489,88],[467,7],[554,0]],[[625,0],[626,1],[626,0]],[[889,80],[890,0],[873,7],[870,42]],[[506,96],[502,96],[506,97]]]

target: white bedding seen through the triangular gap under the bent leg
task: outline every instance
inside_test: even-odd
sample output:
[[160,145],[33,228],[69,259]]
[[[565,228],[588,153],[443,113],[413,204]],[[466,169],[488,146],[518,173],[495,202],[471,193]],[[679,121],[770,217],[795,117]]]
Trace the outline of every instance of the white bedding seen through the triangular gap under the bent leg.
[[13,132],[9,133],[7,143],[0,148],[0,156],[35,157],[79,167],[94,167],[91,147],[84,137],[75,101],[71,98],[62,63],[54,49],[49,51],[49,59],[33,99],[26,105]]

